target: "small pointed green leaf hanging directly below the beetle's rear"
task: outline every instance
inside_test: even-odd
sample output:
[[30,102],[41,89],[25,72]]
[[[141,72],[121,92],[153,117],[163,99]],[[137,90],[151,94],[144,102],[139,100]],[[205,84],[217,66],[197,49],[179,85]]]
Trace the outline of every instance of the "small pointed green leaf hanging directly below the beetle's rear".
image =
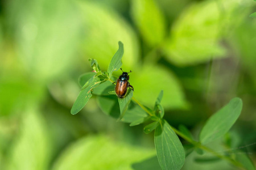
[[118,120],[121,120],[123,116],[125,116],[125,112],[127,111],[128,105],[130,104],[131,97],[133,97],[133,90],[130,89],[127,90],[125,97],[123,97],[122,99],[118,97],[118,103],[121,114]]

